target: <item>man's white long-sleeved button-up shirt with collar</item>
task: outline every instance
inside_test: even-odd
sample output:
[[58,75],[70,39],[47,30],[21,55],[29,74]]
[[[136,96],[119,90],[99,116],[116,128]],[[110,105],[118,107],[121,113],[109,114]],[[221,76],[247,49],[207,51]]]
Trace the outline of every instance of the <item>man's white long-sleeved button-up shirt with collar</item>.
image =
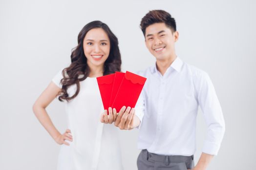
[[225,122],[208,74],[176,58],[162,76],[156,66],[138,72],[147,78],[135,106],[141,119],[138,148],[162,155],[195,153],[198,106],[207,124],[202,152],[216,155]]

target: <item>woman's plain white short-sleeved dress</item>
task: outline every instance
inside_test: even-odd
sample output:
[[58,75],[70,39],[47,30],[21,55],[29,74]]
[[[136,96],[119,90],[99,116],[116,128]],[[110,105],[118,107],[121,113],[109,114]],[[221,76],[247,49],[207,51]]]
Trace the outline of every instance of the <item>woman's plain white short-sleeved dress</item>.
[[[52,81],[62,87],[62,78],[61,70]],[[67,90],[75,91],[76,85]],[[58,170],[123,170],[118,128],[100,122],[104,108],[96,78],[80,82],[79,94],[64,104],[73,141],[61,146]]]

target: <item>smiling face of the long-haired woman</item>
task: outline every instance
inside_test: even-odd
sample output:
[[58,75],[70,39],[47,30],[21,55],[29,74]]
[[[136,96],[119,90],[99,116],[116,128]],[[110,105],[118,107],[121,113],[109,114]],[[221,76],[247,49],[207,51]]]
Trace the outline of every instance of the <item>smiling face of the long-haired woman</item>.
[[91,29],[85,35],[83,48],[91,69],[103,67],[110,51],[107,33],[102,28]]

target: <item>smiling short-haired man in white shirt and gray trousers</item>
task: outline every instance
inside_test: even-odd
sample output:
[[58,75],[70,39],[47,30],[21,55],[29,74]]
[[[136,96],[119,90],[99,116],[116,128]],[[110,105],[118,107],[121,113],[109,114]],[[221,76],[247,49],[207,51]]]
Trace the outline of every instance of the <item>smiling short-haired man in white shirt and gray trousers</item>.
[[[147,81],[135,109],[124,106],[117,115],[110,108],[109,117],[105,112],[102,122],[115,121],[120,129],[139,126],[138,148],[142,150],[137,160],[139,170],[205,170],[218,153],[225,131],[213,84],[206,72],[177,57],[174,44],[179,34],[169,13],[149,11],[140,26],[156,64],[138,73]],[[194,167],[198,106],[208,134]]]

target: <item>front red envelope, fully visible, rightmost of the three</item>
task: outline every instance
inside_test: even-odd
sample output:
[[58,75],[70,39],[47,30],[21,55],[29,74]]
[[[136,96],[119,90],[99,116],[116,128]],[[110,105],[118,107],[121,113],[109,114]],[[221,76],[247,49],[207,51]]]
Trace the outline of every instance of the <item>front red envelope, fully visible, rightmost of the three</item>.
[[146,80],[145,77],[126,71],[112,108],[119,112],[123,106],[135,107]]

